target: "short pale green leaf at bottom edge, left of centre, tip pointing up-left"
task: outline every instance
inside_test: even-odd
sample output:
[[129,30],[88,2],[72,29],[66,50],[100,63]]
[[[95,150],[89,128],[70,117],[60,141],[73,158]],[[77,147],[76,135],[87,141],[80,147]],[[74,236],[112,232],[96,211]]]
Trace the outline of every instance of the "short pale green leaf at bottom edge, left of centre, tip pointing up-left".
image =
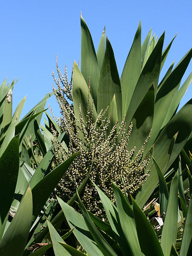
[[59,236],[51,222],[47,220],[47,225],[49,227],[49,232],[52,241],[52,247],[55,253],[55,256],[70,256],[71,254],[59,243],[59,241],[64,242],[64,240]]

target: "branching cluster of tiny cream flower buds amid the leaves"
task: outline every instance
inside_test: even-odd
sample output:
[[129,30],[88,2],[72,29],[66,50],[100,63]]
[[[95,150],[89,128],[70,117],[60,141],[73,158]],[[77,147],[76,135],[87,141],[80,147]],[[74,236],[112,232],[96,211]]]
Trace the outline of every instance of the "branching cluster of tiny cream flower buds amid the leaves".
[[[142,158],[143,149],[150,134],[142,148],[134,156],[135,147],[131,151],[127,150],[132,123],[128,132],[125,132],[125,118],[121,124],[118,124],[117,121],[107,137],[106,131],[110,123],[110,113],[108,113],[108,108],[105,111],[102,110],[96,121],[93,122],[93,102],[91,108],[89,102],[90,85],[87,97],[87,121],[85,122],[82,117],[81,105],[79,105],[79,117],[75,116],[72,95],[73,72],[70,83],[68,83],[66,67],[64,76],[58,65],[57,72],[57,80],[52,73],[57,85],[57,90],[53,86],[53,92],[60,106],[61,116],[59,118],[53,116],[61,132],[67,132],[69,144],[66,147],[65,143],[60,143],[56,131],[52,130],[55,138],[53,143],[55,160],[60,164],[75,152],[80,151],[80,153],[56,187],[56,195],[64,201],[69,200],[80,183],[87,177],[89,171],[90,180],[105,191],[105,194],[113,202],[115,199],[111,180],[119,186],[122,192],[125,191],[128,195],[136,193],[149,175],[149,169],[145,169],[149,164],[150,154],[145,159],[142,160]],[[83,195],[81,195],[82,201],[87,210],[103,217],[99,195],[90,180],[84,188]]]

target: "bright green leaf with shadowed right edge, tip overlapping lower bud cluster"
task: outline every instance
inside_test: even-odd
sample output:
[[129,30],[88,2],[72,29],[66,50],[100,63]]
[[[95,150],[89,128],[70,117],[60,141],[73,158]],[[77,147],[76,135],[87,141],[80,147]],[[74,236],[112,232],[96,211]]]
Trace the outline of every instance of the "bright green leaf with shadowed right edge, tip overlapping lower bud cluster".
[[127,253],[128,255],[130,253],[130,255],[139,256],[141,255],[141,249],[137,237],[133,209],[128,204],[128,201],[122,194],[121,190],[114,183],[113,191],[115,195],[116,207],[119,214],[122,231],[124,233],[126,242],[130,248],[130,251]]

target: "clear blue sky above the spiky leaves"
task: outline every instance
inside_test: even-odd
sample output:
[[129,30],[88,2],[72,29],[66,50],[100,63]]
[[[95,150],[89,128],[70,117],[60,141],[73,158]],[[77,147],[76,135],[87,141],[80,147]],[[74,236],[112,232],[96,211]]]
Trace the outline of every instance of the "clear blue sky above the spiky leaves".
[[[139,21],[142,41],[152,27],[158,38],[166,31],[164,49],[177,33],[166,59],[161,78],[175,60],[177,64],[192,45],[191,0],[161,1],[64,1],[64,0],[6,0],[0,10],[0,84],[19,78],[13,92],[13,108],[27,95],[23,114],[26,114],[45,94],[52,91],[52,70],[55,58],[58,65],[68,68],[81,58],[80,11],[97,50],[106,26],[116,64],[121,76],[125,60],[134,39]],[[191,61],[192,62],[192,61]],[[192,71],[192,63],[184,79]],[[192,96],[189,87],[181,105]],[[54,96],[48,102],[55,114],[59,113]]]

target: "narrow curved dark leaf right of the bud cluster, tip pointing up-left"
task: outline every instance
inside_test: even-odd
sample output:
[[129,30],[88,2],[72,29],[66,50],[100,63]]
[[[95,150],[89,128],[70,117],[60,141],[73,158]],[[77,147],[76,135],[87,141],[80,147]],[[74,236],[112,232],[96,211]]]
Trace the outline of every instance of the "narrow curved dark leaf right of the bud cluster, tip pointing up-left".
[[166,180],[165,180],[165,178],[163,176],[163,173],[161,172],[157,162],[155,161],[154,157],[153,157],[153,161],[154,161],[155,168],[157,170],[157,175],[158,175],[158,178],[159,178],[160,214],[163,214],[163,212],[165,212],[166,207],[167,207],[169,192],[168,192]]

